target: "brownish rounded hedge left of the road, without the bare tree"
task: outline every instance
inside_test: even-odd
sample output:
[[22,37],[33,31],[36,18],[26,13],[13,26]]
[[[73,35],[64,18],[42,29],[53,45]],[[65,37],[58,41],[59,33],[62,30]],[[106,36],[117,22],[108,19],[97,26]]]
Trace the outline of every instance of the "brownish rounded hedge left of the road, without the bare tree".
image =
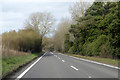
[[[24,52],[40,52],[42,48],[40,35],[33,30],[10,31],[2,34],[2,46]],[[9,52],[8,52],[9,53]]]

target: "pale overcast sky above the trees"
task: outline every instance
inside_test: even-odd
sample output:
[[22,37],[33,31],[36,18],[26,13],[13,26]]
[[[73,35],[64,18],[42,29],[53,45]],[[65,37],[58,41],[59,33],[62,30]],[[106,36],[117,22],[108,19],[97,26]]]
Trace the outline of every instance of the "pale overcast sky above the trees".
[[71,4],[71,2],[3,2],[0,33],[24,28],[25,20],[35,12],[50,12],[58,23],[62,17],[71,17],[68,10]]

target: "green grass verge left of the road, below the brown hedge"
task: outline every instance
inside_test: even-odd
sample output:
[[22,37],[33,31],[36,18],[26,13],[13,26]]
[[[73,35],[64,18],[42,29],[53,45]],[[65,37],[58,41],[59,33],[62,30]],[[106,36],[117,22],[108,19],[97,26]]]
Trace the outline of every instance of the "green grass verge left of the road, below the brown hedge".
[[26,56],[3,58],[2,59],[2,76],[6,76],[9,72],[12,72],[13,70],[17,69],[19,66],[27,63],[28,61],[42,54],[43,52],[32,53]]

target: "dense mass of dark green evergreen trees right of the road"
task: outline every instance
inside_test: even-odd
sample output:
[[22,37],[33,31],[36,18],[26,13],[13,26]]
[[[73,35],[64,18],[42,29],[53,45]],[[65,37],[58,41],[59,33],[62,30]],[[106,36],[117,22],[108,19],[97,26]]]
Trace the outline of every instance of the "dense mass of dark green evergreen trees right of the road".
[[[118,2],[94,2],[72,24],[65,40],[65,52],[83,56],[120,58],[120,19]],[[74,41],[70,41],[70,34]]]

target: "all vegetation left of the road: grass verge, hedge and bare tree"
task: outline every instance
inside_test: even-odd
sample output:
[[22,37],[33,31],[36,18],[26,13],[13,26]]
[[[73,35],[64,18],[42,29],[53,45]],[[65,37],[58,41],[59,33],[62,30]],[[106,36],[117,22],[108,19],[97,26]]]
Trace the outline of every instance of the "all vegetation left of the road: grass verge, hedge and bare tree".
[[2,77],[43,54],[46,36],[54,24],[50,13],[33,13],[24,29],[2,33]]

